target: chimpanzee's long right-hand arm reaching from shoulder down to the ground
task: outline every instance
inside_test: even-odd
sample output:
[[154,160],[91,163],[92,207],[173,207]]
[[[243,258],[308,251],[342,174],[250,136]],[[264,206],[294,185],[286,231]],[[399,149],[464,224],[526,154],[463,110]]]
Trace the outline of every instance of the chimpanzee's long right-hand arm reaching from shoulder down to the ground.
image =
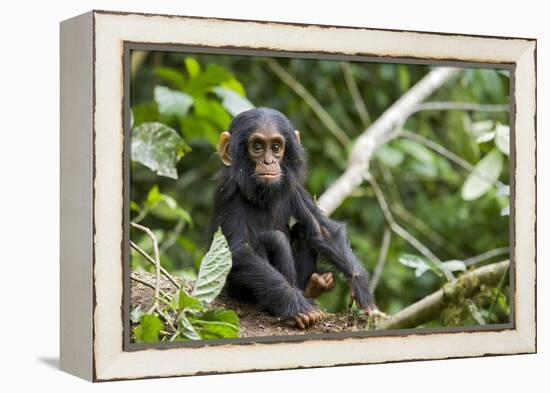
[[375,310],[368,273],[351,250],[345,226],[325,216],[303,189],[297,192],[293,205],[293,214],[305,227],[310,247],[344,274],[360,308],[369,313]]

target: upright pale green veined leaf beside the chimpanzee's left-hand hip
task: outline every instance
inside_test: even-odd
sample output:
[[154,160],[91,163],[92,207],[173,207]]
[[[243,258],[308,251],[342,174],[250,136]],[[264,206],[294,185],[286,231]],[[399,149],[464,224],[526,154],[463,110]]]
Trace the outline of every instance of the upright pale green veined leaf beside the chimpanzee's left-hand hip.
[[191,296],[206,303],[214,300],[225,284],[231,265],[231,251],[221,229],[218,229],[214,234],[210,250],[202,259]]

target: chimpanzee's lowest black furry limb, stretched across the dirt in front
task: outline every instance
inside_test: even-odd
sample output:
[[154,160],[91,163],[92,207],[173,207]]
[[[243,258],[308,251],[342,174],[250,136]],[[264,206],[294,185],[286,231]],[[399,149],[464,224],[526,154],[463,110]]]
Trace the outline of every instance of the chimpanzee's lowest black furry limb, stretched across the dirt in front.
[[232,248],[233,267],[228,277],[230,286],[249,289],[261,306],[277,316],[295,317],[316,309],[312,300],[291,285],[248,242]]

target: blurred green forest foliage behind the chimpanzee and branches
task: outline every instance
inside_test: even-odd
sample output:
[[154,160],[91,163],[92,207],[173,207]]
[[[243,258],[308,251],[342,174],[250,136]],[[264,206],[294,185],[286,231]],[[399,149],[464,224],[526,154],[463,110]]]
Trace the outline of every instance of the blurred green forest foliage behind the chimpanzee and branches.
[[[186,278],[196,276],[208,249],[213,177],[221,164],[217,139],[236,113],[254,105],[286,114],[300,130],[308,154],[307,189],[320,196],[345,170],[353,141],[432,69],[160,51],[132,51],[130,67],[131,218],[154,230],[162,265]],[[305,95],[296,93],[297,84]],[[305,96],[320,104],[342,133],[331,130]],[[491,69],[464,69],[429,98],[483,104],[508,100],[508,72]],[[410,138],[389,142],[371,161],[372,176],[396,222],[442,261],[477,267],[508,258],[508,125],[506,111],[464,110],[421,111],[404,124],[483,171],[493,185],[476,182],[471,171]],[[388,232],[387,257],[375,290],[384,312],[394,313],[445,283],[415,248],[395,233],[389,236],[368,182],[331,217],[348,224],[352,248],[370,272]],[[152,252],[142,233],[132,231],[131,239]],[[491,250],[487,257],[470,259]],[[151,270],[134,251],[131,263],[132,269]],[[319,300],[332,312],[347,306],[347,285],[342,277],[337,279],[336,289]],[[507,279],[498,288],[484,288],[473,301],[474,313],[466,304],[459,305],[426,326],[476,324],[475,313],[486,323],[507,322]]]

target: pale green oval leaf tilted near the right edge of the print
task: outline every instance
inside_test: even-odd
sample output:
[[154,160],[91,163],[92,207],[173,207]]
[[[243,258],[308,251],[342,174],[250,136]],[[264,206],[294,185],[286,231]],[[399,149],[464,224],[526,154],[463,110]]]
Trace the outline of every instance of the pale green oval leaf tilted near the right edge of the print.
[[462,185],[462,199],[472,201],[489,191],[500,176],[502,161],[502,154],[497,149],[483,157]]

